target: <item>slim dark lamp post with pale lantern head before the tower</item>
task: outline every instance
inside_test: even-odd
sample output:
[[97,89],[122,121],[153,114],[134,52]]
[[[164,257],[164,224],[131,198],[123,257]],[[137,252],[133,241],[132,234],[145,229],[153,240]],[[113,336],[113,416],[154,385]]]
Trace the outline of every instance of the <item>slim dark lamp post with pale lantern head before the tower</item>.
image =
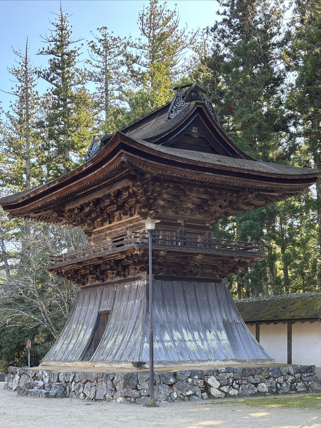
[[147,218],[143,220],[148,233],[148,263],[149,263],[149,405],[154,405],[154,333],[152,324],[152,234],[155,224],[161,220]]

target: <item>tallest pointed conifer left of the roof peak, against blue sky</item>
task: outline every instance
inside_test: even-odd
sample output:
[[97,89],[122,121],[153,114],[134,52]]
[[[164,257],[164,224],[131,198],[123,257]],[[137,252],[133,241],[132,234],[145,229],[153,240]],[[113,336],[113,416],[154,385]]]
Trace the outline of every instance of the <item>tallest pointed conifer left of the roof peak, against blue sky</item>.
[[69,15],[60,5],[52,30],[43,37],[43,47],[38,54],[49,56],[48,67],[39,75],[50,87],[44,97],[42,163],[46,178],[58,177],[73,169],[79,156],[85,154],[94,124],[91,96],[84,87],[85,79],[78,68],[80,40],[72,38]]

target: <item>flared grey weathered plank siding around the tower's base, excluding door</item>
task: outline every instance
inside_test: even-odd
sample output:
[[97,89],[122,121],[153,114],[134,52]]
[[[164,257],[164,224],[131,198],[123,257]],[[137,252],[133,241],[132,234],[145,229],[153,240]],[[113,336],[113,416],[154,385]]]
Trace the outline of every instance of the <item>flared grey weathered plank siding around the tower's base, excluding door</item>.
[[[91,358],[99,362],[148,361],[148,282],[132,281],[82,290],[50,361],[81,361],[99,311],[110,311]],[[271,358],[240,317],[224,284],[153,282],[154,360],[248,360]]]

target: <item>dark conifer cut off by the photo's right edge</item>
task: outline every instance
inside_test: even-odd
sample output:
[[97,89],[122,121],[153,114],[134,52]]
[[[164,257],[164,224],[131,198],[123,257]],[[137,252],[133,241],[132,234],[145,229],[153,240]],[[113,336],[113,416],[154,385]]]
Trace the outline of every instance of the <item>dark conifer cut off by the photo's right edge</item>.
[[[287,70],[295,81],[288,104],[297,113],[301,166],[321,169],[321,4],[317,0],[296,0],[292,37],[285,50]],[[302,140],[302,137],[304,140]],[[318,246],[321,249],[321,180],[316,182]],[[321,251],[321,250],[320,250]]]

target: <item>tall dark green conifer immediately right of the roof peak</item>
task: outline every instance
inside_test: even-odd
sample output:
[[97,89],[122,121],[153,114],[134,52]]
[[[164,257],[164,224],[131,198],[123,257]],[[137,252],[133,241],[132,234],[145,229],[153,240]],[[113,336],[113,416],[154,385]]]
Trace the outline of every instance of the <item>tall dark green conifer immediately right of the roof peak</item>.
[[[285,73],[279,66],[286,40],[280,37],[284,2],[275,0],[219,0],[221,20],[209,29],[213,53],[207,58],[209,81],[218,116],[227,133],[255,158],[285,162],[293,138],[291,113],[284,108]],[[233,239],[260,241],[264,251],[267,225],[273,208],[237,216]],[[271,256],[271,259],[270,259]],[[257,296],[274,292],[268,281],[273,255],[267,262],[236,276],[238,294]],[[273,270],[274,269],[274,270]],[[268,290],[269,289],[269,290]],[[243,290],[243,292],[242,292]]]

